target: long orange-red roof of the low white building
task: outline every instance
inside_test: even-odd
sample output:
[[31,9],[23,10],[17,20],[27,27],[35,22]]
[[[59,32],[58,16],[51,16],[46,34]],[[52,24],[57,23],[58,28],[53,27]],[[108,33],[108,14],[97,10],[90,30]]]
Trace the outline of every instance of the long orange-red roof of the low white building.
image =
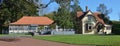
[[13,25],[50,25],[53,23],[53,20],[44,16],[23,16],[17,22],[11,23]]

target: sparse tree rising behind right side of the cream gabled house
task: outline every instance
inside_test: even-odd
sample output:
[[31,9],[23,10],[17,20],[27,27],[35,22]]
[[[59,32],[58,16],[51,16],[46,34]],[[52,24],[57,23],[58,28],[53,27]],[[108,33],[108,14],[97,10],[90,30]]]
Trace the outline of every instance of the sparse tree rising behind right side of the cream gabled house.
[[109,24],[110,20],[108,14],[110,14],[112,10],[107,9],[107,7],[104,4],[100,4],[99,7],[97,7],[97,11],[101,12],[101,18],[104,20],[104,22],[106,24]]

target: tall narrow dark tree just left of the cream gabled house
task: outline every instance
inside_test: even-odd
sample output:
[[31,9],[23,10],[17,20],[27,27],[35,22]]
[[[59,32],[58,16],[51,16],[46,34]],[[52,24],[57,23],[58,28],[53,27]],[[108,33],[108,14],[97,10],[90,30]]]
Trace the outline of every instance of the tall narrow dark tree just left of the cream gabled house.
[[72,12],[71,12],[71,16],[73,17],[72,18],[72,22],[73,22],[73,26],[74,26],[74,29],[76,31],[76,33],[80,33],[80,21],[79,19],[77,18],[77,12],[78,11],[83,11],[82,8],[79,6],[79,0],[73,0],[73,5],[71,5],[71,8],[72,8]]

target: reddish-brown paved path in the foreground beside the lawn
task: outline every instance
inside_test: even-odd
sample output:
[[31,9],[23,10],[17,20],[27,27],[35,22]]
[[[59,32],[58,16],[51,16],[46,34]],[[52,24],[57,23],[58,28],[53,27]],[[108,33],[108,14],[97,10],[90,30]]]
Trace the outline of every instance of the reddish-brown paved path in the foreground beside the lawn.
[[75,46],[75,45],[37,40],[32,38],[20,38],[19,41],[12,42],[0,41],[0,46]]

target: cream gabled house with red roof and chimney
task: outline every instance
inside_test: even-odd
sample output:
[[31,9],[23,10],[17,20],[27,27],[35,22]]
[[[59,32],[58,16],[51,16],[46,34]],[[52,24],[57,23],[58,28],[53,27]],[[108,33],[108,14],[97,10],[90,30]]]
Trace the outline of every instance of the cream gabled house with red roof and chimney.
[[77,32],[81,34],[111,34],[112,26],[105,24],[100,15],[100,12],[92,12],[87,7],[86,12],[77,12],[77,25],[79,25]]

